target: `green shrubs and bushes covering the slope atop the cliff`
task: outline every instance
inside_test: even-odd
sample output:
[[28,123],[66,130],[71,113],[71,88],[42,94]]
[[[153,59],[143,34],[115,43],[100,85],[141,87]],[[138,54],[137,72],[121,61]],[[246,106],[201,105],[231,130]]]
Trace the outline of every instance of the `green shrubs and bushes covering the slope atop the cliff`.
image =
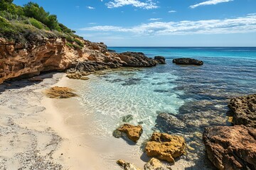
[[24,6],[13,4],[13,0],[0,0],[0,37],[26,41],[26,35],[36,33],[48,37],[66,38],[72,48],[84,46],[75,30],[58,22],[56,15],[45,11],[42,6],[29,2]]

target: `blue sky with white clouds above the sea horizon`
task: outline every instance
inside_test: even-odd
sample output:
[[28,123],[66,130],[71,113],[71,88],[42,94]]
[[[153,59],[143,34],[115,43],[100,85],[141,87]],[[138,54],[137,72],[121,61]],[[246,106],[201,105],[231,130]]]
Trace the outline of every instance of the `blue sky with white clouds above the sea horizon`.
[[86,40],[110,47],[256,46],[256,0],[32,1]]

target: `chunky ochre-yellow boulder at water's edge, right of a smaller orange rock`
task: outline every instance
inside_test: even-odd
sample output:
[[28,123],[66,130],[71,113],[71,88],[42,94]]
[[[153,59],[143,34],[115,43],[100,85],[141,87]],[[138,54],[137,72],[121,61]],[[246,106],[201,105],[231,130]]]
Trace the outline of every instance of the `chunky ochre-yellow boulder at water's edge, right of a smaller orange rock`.
[[176,157],[185,154],[186,143],[183,137],[167,133],[154,132],[149,142],[146,142],[145,151],[149,157],[174,162]]

